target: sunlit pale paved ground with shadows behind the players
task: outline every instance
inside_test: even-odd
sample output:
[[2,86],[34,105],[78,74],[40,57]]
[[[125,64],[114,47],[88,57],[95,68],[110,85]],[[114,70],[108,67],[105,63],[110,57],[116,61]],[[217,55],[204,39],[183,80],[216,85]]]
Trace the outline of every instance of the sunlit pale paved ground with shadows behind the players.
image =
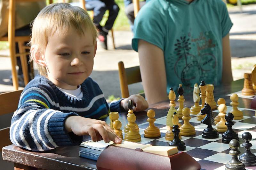
[[[240,13],[239,8],[233,7],[229,9],[229,14],[234,23],[230,31],[230,44],[233,56],[232,71],[236,80],[243,77],[243,73],[250,71],[253,64],[256,64],[256,5],[243,6],[243,13]],[[138,53],[134,52],[130,45],[132,32],[114,31],[114,36],[117,49],[113,49],[111,36],[108,36],[109,50],[98,47],[91,75],[106,97],[121,96],[118,61],[124,61],[125,67],[139,65]],[[0,51],[0,55],[8,55],[8,51]],[[13,89],[8,82],[11,75],[10,59],[0,57],[0,66],[0,92],[10,91]],[[129,86],[129,90],[130,94],[139,93],[143,87],[141,83],[136,83]]]

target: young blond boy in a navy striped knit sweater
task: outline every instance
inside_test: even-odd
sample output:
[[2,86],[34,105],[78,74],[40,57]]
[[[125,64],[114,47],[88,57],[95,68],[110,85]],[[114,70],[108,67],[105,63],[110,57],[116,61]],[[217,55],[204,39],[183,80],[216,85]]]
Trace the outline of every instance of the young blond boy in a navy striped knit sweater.
[[20,96],[12,117],[10,138],[14,145],[33,151],[79,145],[83,135],[93,141],[121,143],[104,121],[109,111],[148,108],[138,95],[108,106],[98,84],[89,75],[97,49],[97,31],[83,9],[65,3],[46,6],[33,23],[31,60],[39,73]]

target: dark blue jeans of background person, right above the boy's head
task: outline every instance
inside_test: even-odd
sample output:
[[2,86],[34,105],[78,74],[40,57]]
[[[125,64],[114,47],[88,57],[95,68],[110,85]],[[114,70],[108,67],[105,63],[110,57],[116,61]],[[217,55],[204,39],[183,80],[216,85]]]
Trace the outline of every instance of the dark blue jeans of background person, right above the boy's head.
[[100,21],[102,20],[105,12],[108,10],[108,20],[104,26],[104,28],[107,30],[110,30],[113,27],[119,12],[119,7],[114,0],[89,0],[86,1],[86,9],[88,11],[93,10],[93,22],[98,28],[101,27]]

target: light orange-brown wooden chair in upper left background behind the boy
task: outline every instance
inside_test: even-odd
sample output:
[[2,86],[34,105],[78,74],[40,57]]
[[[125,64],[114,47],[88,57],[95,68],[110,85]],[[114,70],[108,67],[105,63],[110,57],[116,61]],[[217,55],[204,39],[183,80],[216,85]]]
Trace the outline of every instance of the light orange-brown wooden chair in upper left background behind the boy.
[[[9,15],[8,15],[8,36],[4,36],[0,38],[0,41],[8,41],[9,43],[9,51],[10,58],[12,63],[12,84],[15,90],[18,90],[19,81],[18,75],[16,71],[16,57],[20,56],[20,62],[24,77],[25,85],[28,84],[29,75],[28,75],[28,61],[27,55],[29,52],[26,52],[26,49],[30,49],[28,46],[24,46],[24,43],[29,41],[29,36],[15,36],[15,4],[16,2],[32,2],[32,1],[40,1],[40,0],[9,0]],[[42,1],[42,0],[41,0]],[[52,0],[49,0],[52,3]],[[19,53],[16,53],[15,43],[18,43]],[[33,68],[33,63],[31,63],[31,68]],[[31,69],[33,72],[33,69]]]

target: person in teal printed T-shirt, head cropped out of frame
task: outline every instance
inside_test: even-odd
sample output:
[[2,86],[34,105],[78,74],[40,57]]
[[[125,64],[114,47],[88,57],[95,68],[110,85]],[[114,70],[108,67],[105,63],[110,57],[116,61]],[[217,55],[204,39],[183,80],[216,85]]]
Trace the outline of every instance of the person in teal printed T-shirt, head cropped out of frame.
[[168,100],[179,84],[188,92],[201,80],[231,82],[232,25],[222,0],[148,0],[132,39],[148,103]]

